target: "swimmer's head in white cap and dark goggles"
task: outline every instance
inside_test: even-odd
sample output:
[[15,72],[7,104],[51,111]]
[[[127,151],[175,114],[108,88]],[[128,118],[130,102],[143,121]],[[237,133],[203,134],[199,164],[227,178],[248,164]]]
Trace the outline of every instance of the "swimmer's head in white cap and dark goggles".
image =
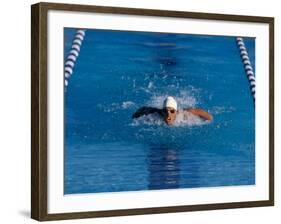
[[177,117],[177,109],[177,101],[173,97],[168,96],[163,103],[164,120],[168,125],[171,125],[175,122]]

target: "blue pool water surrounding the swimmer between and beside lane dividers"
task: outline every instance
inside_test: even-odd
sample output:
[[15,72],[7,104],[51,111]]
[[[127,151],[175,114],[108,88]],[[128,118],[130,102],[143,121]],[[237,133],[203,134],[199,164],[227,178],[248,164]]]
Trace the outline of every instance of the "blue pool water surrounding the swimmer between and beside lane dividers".
[[[64,30],[67,56],[76,30]],[[244,38],[255,65],[255,39]],[[202,108],[168,127],[141,106]],[[255,184],[255,111],[234,37],[87,30],[65,89],[65,194]]]

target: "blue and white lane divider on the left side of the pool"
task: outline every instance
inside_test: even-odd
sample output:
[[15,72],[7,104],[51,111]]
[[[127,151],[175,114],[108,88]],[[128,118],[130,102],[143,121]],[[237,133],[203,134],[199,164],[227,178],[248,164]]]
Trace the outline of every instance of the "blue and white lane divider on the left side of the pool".
[[75,62],[79,56],[80,49],[85,37],[86,30],[77,30],[75,37],[72,41],[71,50],[68,53],[68,56],[66,58],[65,64],[64,64],[64,84],[65,86],[68,86],[69,78],[73,73],[73,69],[75,66]]

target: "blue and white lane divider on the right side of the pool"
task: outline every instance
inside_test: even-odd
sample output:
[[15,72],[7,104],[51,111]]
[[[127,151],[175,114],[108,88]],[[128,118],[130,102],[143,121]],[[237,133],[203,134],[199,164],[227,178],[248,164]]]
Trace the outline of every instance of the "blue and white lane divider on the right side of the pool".
[[254,70],[253,70],[253,67],[251,65],[251,62],[250,62],[248,52],[247,52],[247,49],[245,47],[243,38],[237,37],[236,42],[237,42],[237,46],[240,50],[240,56],[241,56],[242,62],[244,64],[245,73],[247,75],[247,78],[248,78],[248,81],[249,81],[249,84],[250,84],[250,89],[251,89],[251,92],[252,92],[252,96],[253,96],[254,102],[255,102],[256,78],[255,78]]

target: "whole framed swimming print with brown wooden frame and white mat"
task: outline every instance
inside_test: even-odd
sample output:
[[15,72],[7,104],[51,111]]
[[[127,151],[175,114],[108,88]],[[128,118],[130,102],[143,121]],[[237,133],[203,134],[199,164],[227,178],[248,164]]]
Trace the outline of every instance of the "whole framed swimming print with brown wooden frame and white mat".
[[32,218],[274,204],[274,19],[32,5]]

